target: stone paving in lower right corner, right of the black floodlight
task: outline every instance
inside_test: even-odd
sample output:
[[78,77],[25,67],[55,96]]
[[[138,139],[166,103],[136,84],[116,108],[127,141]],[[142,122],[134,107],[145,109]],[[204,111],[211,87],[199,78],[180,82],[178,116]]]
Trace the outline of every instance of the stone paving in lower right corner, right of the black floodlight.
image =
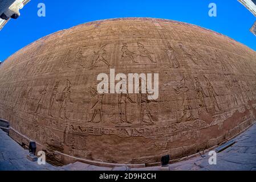
[[217,154],[217,164],[210,165],[209,155],[169,165],[169,170],[246,170],[256,171],[256,125],[234,139],[235,144]]

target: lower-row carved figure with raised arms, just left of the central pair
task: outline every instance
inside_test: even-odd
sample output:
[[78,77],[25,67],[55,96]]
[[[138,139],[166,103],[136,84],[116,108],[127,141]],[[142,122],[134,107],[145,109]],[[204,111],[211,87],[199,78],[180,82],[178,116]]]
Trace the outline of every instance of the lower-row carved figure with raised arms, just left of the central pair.
[[[104,93],[100,94],[94,88],[89,88],[88,91],[90,92],[91,97],[97,97],[97,101],[95,102],[94,106],[91,109],[94,109],[94,114],[92,115],[92,119],[88,121],[89,123],[101,123],[103,121],[103,97]],[[94,121],[96,115],[99,113],[100,121]]]

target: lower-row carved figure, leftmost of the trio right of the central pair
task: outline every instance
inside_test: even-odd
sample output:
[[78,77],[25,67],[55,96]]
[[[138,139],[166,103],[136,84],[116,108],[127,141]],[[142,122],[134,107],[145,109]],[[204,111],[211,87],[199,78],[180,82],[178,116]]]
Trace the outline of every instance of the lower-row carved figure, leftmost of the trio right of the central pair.
[[184,118],[185,118],[185,121],[189,121],[190,119],[193,119],[192,107],[190,106],[189,97],[188,97],[189,88],[188,86],[185,86],[184,78],[182,78],[182,80],[180,81],[180,86],[178,88],[174,88],[174,91],[176,94],[182,94],[182,97],[183,97],[182,98],[183,113],[180,119],[178,119],[178,121]]

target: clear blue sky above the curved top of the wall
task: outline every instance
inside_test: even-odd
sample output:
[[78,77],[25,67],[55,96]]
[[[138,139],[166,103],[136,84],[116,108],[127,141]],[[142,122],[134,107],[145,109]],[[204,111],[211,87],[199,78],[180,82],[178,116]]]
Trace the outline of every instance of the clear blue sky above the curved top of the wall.
[[[38,3],[46,5],[46,17],[37,15]],[[209,3],[216,3],[217,17],[208,16]],[[256,50],[256,36],[249,31],[256,20],[237,0],[128,0],[88,1],[32,0],[21,17],[10,20],[0,31],[0,60],[31,42],[55,31],[93,20],[151,17],[178,20],[220,32]]]

